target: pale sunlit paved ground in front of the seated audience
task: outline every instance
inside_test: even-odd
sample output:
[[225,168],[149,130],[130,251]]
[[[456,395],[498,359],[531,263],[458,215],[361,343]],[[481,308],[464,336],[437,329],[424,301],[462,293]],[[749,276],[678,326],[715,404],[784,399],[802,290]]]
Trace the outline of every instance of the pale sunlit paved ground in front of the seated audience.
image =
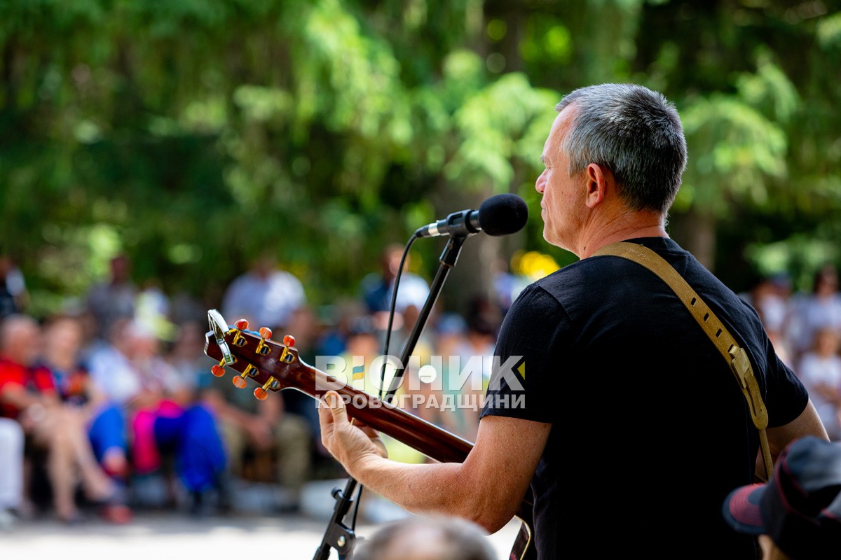
[[[66,526],[50,519],[21,521],[0,531],[0,558],[17,560],[309,560],[315,556],[335,503],[331,482],[308,489],[304,511],[295,515],[238,512],[195,519],[181,512],[146,511],[126,526],[87,521]],[[242,492],[246,498],[247,492]],[[253,495],[250,500],[253,500]],[[249,500],[249,498],[246,498]],[[371,534],[385,521],[406,516],[373,496],[357,522],[357,535]],[[512,521],[489,537],[507,558],[519,524]],[[335,551],[331,559],[338,558]]]

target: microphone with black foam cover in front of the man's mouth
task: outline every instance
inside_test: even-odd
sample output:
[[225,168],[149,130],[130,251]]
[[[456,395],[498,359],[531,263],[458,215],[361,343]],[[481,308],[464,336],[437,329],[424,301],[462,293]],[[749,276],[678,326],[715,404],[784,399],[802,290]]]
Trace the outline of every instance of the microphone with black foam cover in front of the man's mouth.
[[442,235],[467,237],[484,231],[488,235],[510,235],[526,225],[528,207],[519,196],[510,193],[491,196],[482,202],[479,210],[452,212],[437,222],[426,224],[415,231],[419,238],[436,238]]

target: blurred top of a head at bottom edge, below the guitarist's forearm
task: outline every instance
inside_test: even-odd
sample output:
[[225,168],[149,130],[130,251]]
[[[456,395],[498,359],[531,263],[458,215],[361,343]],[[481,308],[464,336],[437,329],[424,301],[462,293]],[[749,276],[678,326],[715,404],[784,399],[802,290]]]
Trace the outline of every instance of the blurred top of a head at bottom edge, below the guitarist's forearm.
[[356,543],[351,560],[495,560],[479,526],[457,517],[410,517]]

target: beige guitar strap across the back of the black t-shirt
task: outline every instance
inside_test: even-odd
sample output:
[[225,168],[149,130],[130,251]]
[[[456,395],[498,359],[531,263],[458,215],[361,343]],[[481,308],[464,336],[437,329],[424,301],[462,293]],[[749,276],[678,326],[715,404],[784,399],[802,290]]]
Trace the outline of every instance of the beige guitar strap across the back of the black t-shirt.
[[765,466],[766,480],[770,479],[773,464],[768,446],[768,436],[765,433],[765,428],[768,427],[768,411],[765,409],[765,403],[759,392],[759,384],[756,381],[756,377],[754,377],[754,369],[750,365],[748,354],[744,351],[744,348],[739,347],[736,339],[733,338],[730,332],[727,332],[724,324],[719,321],[709,306],[701,300],[701,297],[684,280],[683,276],[678,274],[678,271],[674,270],[674,267],[660,257],[659,254],[635,243],[612,243],[596,251],[593,256],[598,255],[613,255],[642,264],[645,268],[651,270],[655,275],[658,275],[664,280],[674,290],[674,293],[677,294],[680,301],[686,306],[686,309],[690,311],[692,317],[695,317],[698,324],[701,325],[701,328],[710,337],[712,343],[716,345],[718,351],[727,360],[727,364],[730,365],[730,369],[733,370],[738,385],[742,389],[744,398],[748,401],[751,420],[754,421],[754,426],[759,431],[759,443],[762,446],[762,459]]

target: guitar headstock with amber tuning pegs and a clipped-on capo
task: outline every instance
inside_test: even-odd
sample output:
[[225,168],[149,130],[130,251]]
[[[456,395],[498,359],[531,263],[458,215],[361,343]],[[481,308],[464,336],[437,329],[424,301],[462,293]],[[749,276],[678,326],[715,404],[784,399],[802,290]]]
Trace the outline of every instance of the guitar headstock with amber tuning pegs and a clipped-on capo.
[[283,344],[272,340],[272,329],[262,327],[258,331],[248,330],[248,322],[240,319],[230,327],[219,311],[208,311],[210,331],[204,342],[204,353],[219,360],[210,369],[216,377],[225,375],[228,367],[238,375],[231,381],[239,388],[248,385],[248,379],[259,387],[254,396],[265,400],[268,391],[296,386],[295,371],[300,366],[298,350],[294,348],[295,338],[283,337]]

